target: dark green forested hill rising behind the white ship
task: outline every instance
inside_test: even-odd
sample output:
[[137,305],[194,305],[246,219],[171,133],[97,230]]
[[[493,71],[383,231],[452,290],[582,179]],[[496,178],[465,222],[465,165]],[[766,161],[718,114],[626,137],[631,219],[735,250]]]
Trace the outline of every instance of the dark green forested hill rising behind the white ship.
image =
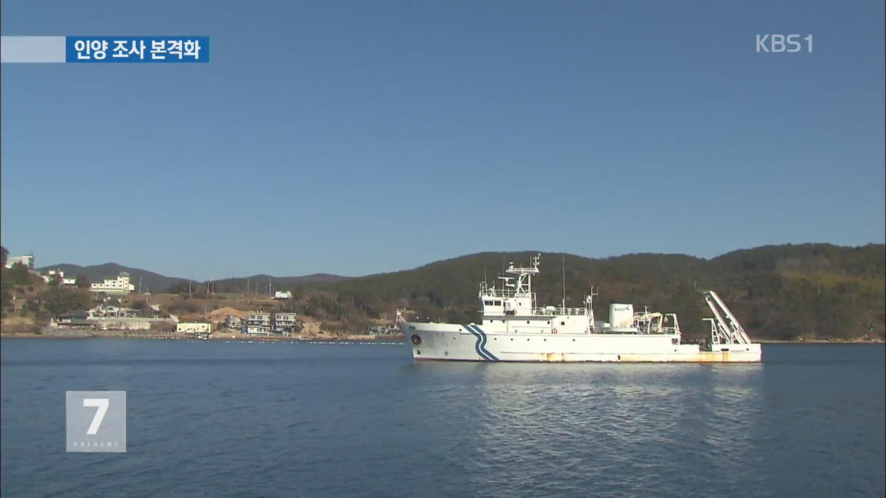
[[[306,311],[355,320],[390,317],[408,307],[435,321],[477,319],[478,283],[492,283],[509,261],[529,261],[534,252],[477,253],[420,268],[296,287]],[[758,338],[882,337],[886,330],[886,249],[884,245],[767,245],[705,260],[682,254],[628,254],[590,259],[542,253],[534,279],[540,305],[563,299],[582,306],[590,285],[598,319],[609,315],[610,300],[628,300],[635,309],[676,311],[684,333],[707,331],[701,292],[713,289]],[[323,295],[318,295],[317,292]],[[312,297],[313,296],[313,297]]]

